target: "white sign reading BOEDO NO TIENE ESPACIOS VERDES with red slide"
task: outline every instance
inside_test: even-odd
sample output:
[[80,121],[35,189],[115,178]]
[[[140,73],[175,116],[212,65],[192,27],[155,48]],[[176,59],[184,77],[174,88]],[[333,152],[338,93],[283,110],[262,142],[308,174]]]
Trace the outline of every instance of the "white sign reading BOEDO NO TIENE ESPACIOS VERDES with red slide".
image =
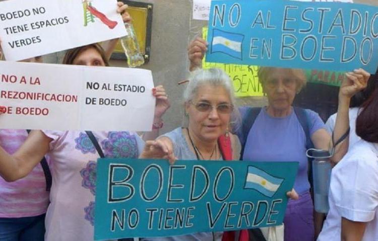
[[7,60],[22,60],[126,35],[116,0],[9,0],[0,3]]

